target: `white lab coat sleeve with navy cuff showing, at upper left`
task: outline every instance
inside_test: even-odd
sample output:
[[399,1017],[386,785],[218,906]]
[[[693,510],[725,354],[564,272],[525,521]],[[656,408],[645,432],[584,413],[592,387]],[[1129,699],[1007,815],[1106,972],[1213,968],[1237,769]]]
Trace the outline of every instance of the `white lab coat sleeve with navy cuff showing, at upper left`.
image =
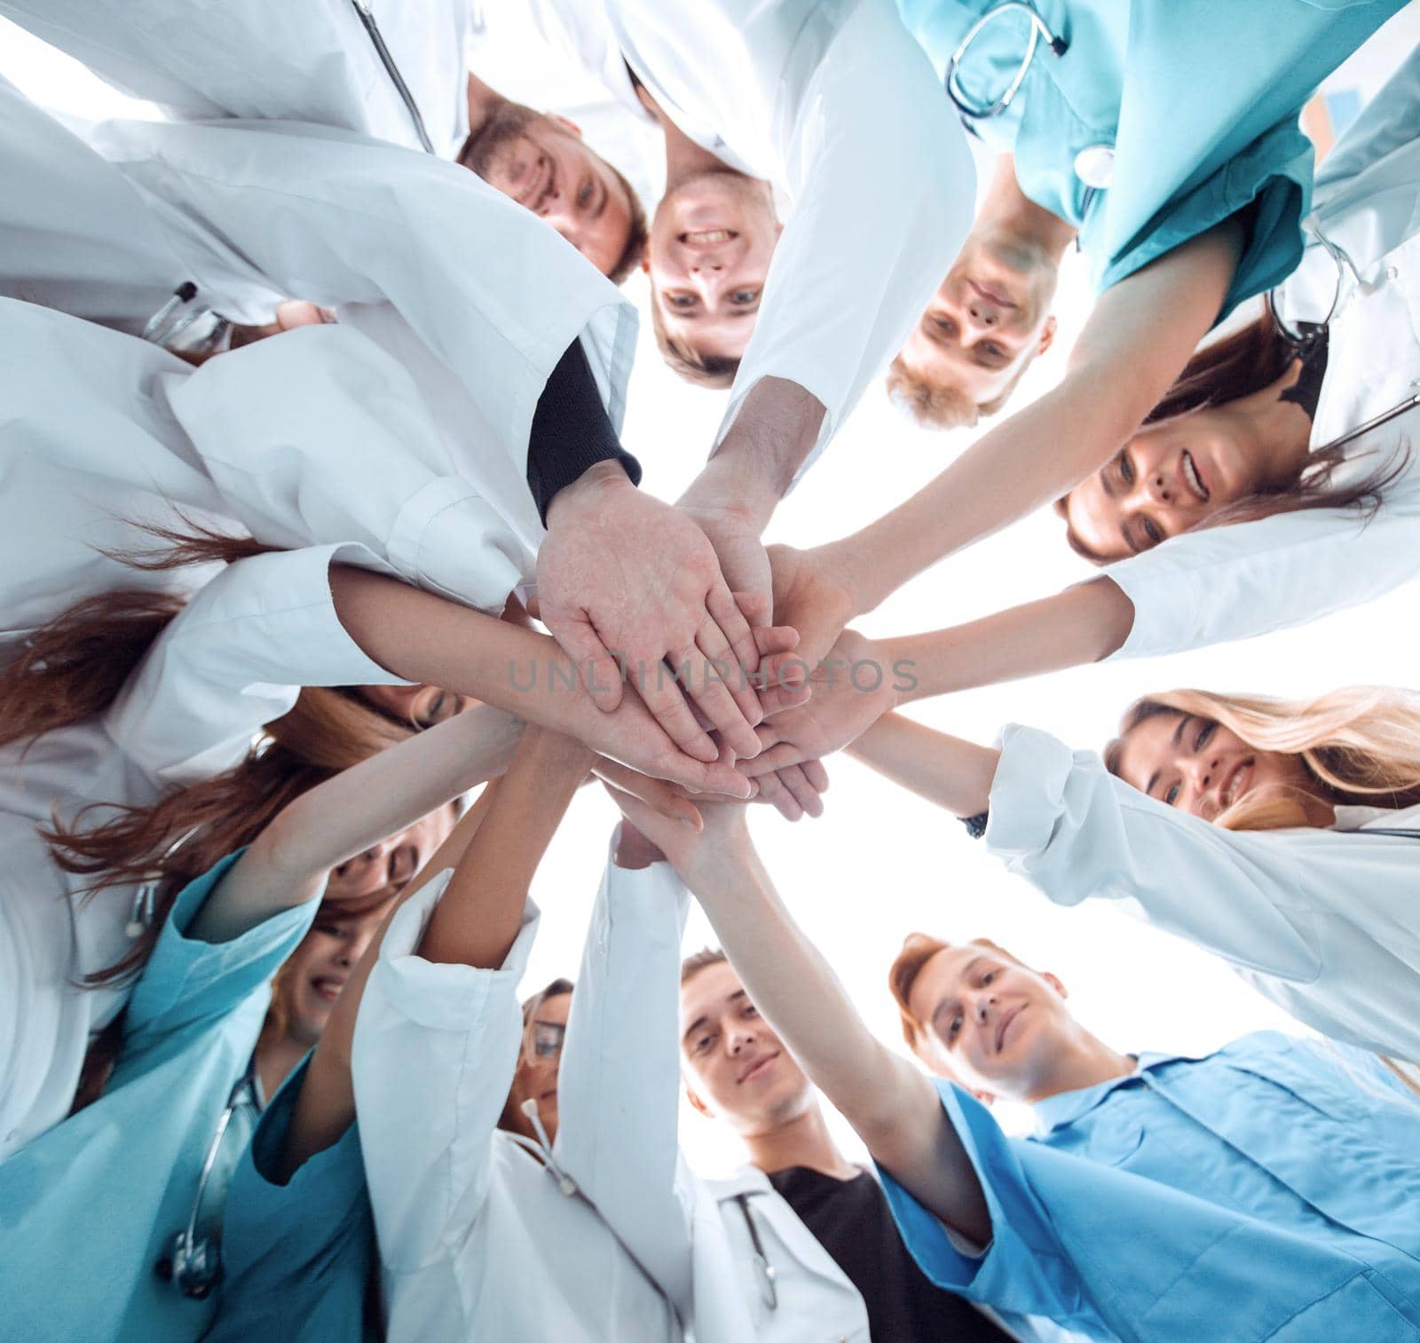
[[466,169],[293,122],[108,122],[94,143],[104,158],[0,85],[7,169],[16,150],[0,292],[129,332],[185,280],[195,304],[239,322],[270,321],[293,295],[334,307],[437,400],[459,474],[508,495],[515,525],[534,532],[528,432],[574,341],[619,427],[635,311]]

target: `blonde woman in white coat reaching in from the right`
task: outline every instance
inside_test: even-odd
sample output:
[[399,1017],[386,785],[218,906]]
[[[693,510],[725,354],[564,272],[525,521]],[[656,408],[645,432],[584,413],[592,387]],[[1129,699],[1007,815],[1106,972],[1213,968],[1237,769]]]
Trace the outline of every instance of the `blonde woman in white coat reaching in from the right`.
[[852,745],[1056,904],[1129,901],[1333,1039],[1420,1062],[1420,697],[1140,700],[1103,755],[888,714]]

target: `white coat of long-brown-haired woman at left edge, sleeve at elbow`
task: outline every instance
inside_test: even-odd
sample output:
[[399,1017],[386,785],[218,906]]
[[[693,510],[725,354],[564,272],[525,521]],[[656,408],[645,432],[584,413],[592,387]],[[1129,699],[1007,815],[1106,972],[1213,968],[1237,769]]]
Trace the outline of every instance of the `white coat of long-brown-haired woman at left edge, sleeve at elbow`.
[[345,633],[324,547],[230,565],[163,630],[101,716],[0,750],[0,1158],[70,1109],[91,1032],[132,985],[84,990],[126,954],[135,887],[91,900],[36,833],[89,804],[143,806],[234,765],[301,686],[403,684]]

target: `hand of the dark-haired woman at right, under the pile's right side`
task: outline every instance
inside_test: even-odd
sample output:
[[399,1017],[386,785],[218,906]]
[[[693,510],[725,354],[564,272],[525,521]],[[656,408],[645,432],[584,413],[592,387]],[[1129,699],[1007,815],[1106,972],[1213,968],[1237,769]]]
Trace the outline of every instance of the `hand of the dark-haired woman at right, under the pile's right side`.
[[896,680],[895,670],[878,656],[876,645],[845,629],[809,677],[812,698],[760,724],[755,731],[764,750],[746,761],[741,772],[758,778],[841,751],[897,707]]

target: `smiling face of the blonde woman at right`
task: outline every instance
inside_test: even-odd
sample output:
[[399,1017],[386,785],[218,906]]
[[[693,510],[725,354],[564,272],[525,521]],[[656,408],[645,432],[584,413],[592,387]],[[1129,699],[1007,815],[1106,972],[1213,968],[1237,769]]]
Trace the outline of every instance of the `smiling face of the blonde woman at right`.
[[1204,821],[1242,798],[1304,801],[1318,792],[1299,755],[1258,751],[1221,723],[1174,710],[1127,731],[1115,768],[1130,786]]

